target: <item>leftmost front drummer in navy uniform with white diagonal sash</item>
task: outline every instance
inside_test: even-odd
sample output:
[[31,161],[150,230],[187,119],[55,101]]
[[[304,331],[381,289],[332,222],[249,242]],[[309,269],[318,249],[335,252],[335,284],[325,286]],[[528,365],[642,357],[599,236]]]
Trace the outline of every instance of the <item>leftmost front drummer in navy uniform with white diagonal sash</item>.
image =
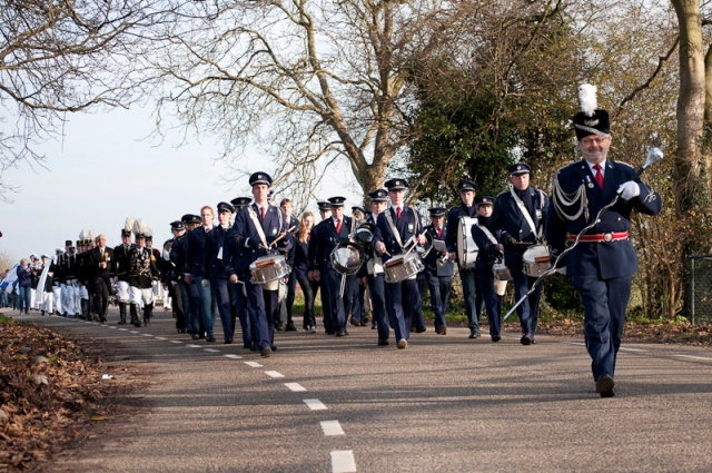
[[246,252],[246,258],[239,268],[239,280],[245,283],[250,312],[250,323],[258,335],[258,348],[263,357],[271,356],[275,337],[275,307],[277,288],[268,289],[263,284],[254,284],[249,265],[258,258],[273,253],[276,246],[288,248],[287,220],[284,211],[267,203],[271,187],[271,177],[267,173],[255,173],[249,177],[255,203],[247,206],[235,217],[235,231],[238,245]]

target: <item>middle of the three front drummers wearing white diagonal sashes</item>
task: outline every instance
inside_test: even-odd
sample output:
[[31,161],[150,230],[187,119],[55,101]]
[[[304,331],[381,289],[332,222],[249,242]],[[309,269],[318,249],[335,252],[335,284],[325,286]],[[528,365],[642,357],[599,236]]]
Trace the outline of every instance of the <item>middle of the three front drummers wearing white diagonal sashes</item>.
[[[422,234],[423,225],[419,215],[404,204],[407,187],[405,179],[387,180],[385,187],[388,189],[390,208],[378,216],[374,246],[378,253],[386,255],[384,265],[387,266],[389,259],[395,259],[394,256],[399,256],[405,263],[406,253],[415,243],[425,245],[425,236]],[[419,258],[417,255],[416,257]],[[417,273],[408,275],[403,280],[386,284],[394,322],[393,328],[400,349],[408,346],[415,300],[421,297],[416,277]]]

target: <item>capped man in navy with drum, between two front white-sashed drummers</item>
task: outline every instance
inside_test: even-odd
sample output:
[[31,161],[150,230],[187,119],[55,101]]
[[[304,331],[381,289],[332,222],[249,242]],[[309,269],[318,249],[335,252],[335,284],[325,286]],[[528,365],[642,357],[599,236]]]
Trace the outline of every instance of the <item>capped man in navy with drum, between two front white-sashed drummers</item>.
[[[322,290],[328,298],[330,313],[330,325],[337,337],[348,335],[346,329],[346,311],[344,297],[342,296],[342,280],[344,276],[333,265],[332,253],[339,243],[348,242],[348,234],[352,228],[352,218],[344,215],[344,197],[332,197],[328,199],[332,205],[332,218],[322,221],[315,231],[316,243],[314,254],[309,255],[313,262],[313,279],[324,283]],[[326,316],[326,314],[325,314]]]

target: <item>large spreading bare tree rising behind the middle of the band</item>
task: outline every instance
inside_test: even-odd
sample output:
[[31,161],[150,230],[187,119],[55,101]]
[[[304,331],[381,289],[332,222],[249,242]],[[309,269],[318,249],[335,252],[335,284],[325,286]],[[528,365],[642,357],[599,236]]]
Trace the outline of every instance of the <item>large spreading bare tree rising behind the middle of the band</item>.
[[[437,39],[441,0],[181,2],[156,30],[159,129],[176,114],[217,134],[225,158],[257,142],[278,184],[308,197],[335,160],[364,190],[411,137],[402,65]],[[268,131],[265,131],[268,130]]]

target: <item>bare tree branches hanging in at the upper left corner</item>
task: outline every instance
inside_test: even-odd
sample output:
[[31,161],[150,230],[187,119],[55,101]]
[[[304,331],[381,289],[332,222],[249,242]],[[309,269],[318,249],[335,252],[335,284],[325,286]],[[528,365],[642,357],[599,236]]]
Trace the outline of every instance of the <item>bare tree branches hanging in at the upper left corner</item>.
[[42,166],[36,145],[58,134],[68,112],[127,106],[138,65],[139,28],[151,0],[2,0],[0,7],[0,199],[3,173]]

